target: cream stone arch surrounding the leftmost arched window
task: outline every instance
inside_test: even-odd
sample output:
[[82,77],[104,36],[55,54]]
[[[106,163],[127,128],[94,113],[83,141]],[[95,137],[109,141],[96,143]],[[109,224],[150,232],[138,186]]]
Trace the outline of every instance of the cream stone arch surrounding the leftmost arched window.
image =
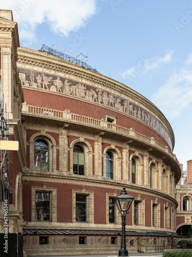
[[55,139],[46,133],[36,133],[31,136],[29,140],[30,151],[30,169],[34,170],[34,142],[37,139],[44,139],[48,142],[49,146],[49,171],[56,171],[56,142]]

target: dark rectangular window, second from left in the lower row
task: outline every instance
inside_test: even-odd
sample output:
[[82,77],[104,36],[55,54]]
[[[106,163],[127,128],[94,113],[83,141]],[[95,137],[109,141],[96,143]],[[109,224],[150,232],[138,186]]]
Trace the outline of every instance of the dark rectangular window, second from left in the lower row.
[[87,196],[76,194],[76,221],[87,222]]

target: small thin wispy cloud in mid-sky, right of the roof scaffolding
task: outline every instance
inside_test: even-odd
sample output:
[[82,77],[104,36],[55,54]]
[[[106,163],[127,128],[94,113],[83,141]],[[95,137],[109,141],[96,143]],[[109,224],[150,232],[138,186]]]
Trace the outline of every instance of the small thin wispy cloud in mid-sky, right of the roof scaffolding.
[[164,57],[160,57],[158,59],[157,58],[147,59],[146,56],[145,57],[140,56],[140,60],[138,61],[138,64],[125,70],[122,74],[122,78],[123,79],[134,78],[138,74],[143,75],[152,69],[156,69],[165,63],[169,63],[172,61],[173,53],[174,51],[170,51],[167,54],[165,54]]

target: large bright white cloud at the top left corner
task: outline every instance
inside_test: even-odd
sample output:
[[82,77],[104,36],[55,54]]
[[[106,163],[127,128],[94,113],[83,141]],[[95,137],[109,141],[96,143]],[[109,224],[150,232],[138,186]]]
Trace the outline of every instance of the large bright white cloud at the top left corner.
[[20,40],[34,42],[35,29],[44,22],[51,31],[65,36],[85,26],[96,13],[96,0],[9,0],[1,3],[1,9],[13,11]]

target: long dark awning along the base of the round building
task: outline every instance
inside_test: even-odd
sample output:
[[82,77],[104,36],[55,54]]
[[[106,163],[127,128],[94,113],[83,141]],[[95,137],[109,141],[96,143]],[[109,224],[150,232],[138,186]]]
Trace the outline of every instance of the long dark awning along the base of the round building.
[[[49,236],[121,236],[121,231],[117,230],[81,230],[81,229],[23,229],[24,236],[49,235]],[[142,231],[126,231],[126,236],[142,236],[142,237],[177,237],[183,238],[177,234],[142,232]]]

